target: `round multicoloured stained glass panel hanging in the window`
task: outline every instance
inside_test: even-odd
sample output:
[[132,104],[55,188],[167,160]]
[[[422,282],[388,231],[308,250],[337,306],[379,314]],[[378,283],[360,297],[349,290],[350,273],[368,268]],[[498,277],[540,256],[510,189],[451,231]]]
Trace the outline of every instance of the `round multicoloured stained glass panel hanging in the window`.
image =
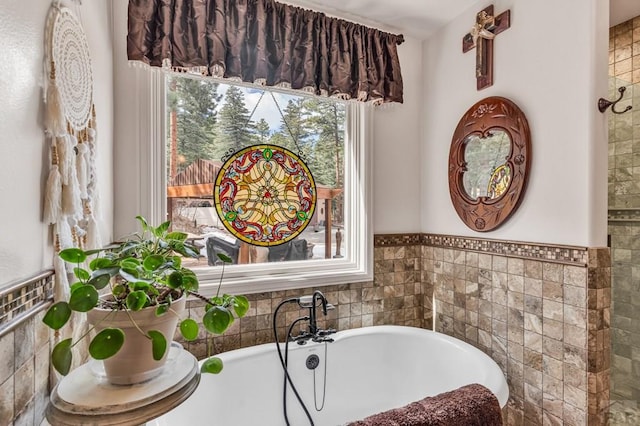
[[276,246],[298,236],[316,206],[316,186],[306,164],[276,145],[253,145],[222,165],[213,188],[216,210],[235,237]]

